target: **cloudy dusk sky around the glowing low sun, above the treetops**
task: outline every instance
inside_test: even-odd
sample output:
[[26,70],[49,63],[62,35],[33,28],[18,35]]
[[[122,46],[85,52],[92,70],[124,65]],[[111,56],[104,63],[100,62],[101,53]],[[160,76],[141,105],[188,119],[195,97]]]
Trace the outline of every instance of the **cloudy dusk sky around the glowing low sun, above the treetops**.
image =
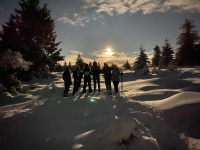
[[[0,0],[0,24],[19,8],[18,2]],[[200,0],[40,0],[40,6],[44,3],[62,41],[61,54],[72,64],[78,53],[87,63],[133,63],[141,44],[152,58],[153,48],[162,47],[166,37],[175,51],[185,19],[194,20],[200,31]]]

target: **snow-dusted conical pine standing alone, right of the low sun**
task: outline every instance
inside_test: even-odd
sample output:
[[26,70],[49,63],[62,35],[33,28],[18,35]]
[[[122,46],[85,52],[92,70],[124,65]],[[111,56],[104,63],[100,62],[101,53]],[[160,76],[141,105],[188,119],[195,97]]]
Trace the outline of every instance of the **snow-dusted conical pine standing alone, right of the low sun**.
[[135,70],[141,69],[150,63],[148,56],[144,52],[145,52],[144,46],[141,45],[140,55],[138,56],[138,58],[136,58],[136,61],[134,62],[134,65],[133,65],[133,68]]

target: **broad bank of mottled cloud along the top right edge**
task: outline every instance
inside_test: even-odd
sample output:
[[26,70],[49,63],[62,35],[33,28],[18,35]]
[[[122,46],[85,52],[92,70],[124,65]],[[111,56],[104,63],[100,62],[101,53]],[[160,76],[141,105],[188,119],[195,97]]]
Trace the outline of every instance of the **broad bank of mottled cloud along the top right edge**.
[[83,8],[95,8],[97,13],[105,12],[110,16],[115,14],[152,12],[200,12],[199,0],[82,0]]

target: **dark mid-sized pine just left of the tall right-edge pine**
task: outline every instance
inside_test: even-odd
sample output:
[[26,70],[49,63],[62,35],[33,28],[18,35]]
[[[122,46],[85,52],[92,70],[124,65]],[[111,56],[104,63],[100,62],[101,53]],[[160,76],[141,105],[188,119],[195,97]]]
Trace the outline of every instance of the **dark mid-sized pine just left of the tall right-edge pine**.
[[167,68],[167,66],[174,59],[173,54],[174,54],[173,47],[171,47],[169,39],[166,38],[165,45],[162,47],[162,52],[161,52],[161,60],[159,64],[161,68]]

